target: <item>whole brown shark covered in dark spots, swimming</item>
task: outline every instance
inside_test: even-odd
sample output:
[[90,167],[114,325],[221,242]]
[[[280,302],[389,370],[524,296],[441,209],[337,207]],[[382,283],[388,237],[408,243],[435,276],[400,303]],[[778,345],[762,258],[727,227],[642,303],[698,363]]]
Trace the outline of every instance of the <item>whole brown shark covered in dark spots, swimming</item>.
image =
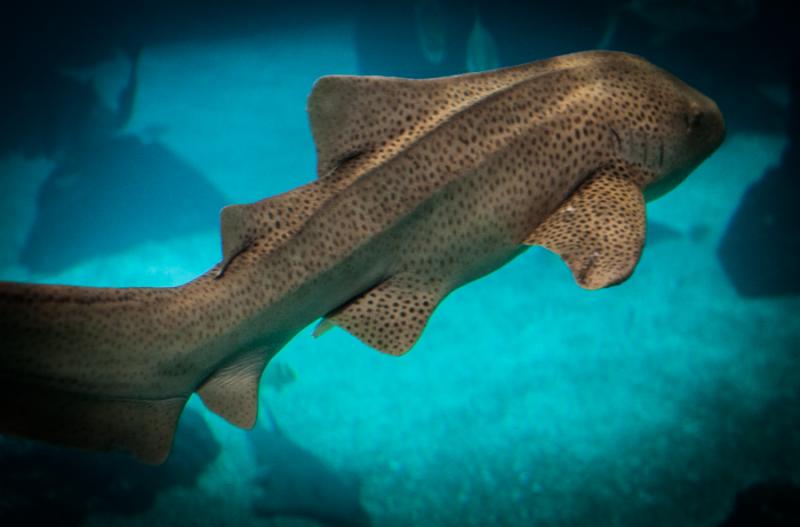
[[0,284],[0,433],[146,462],[187,398],[252,427],[267,362],[322,317],[399,355],[455,288],[542,245],[625,280],[658,195],[724,137],[716,105],[639,57],[584,52],[428,80],[331,76],[318,178],[221,213],[223,260],[176,288]]

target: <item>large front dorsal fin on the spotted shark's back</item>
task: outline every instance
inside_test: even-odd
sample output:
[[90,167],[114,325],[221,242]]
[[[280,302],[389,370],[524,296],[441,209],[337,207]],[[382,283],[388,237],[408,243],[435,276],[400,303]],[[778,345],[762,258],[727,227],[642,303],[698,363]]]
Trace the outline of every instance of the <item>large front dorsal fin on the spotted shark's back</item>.
[[[582,53],[438,79],[331,75],[314,84],[308,98],[317,147],[317,175],[344,161],[402,148],[446,117],[495,91],[555,70],[596,60]],[[594,57],[594,58],[593,58]]]

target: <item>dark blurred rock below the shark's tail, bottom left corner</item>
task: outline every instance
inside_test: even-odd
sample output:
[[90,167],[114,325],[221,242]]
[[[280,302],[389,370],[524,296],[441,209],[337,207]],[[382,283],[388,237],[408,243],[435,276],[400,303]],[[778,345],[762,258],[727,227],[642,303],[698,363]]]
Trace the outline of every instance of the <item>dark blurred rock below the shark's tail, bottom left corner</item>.
[[0,436],[0,525],[81,525],[89,514],[134,515],[169,487],[195,485],[220,453],[203,417],[187,409],[161,466]]

